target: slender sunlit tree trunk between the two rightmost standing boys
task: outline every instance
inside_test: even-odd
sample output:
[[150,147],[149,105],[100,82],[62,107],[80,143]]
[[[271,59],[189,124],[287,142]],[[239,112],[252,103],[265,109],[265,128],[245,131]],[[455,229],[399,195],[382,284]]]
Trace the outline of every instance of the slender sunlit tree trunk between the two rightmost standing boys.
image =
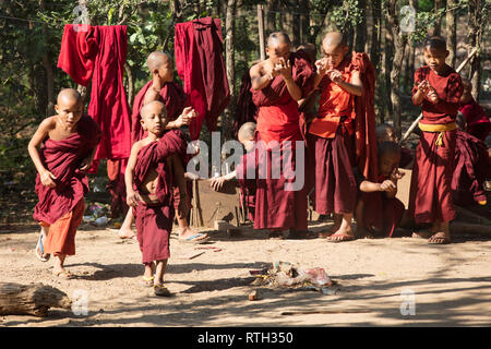
[[399,19],[397,14],[397,0],[387,0],[387,29],[392,32],[394,38],[394,59],[391,70],[391,101],[393,107],[394,129],[398,137],[402,134],[402,113],[399,96],[399,75],[403,67],[404,47],[407,37],[403,35],[399,28]]

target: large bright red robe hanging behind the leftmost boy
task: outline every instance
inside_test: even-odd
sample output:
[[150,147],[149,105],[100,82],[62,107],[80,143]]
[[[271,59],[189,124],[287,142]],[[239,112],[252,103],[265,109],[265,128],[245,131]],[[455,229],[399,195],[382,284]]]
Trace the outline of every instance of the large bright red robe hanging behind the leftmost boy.
[[58,68],[83,86],[92,80],[88,115],[103,132],[95,160],[130,156],[130,109],[123,86],[127,45],[124,25],[88,26],[87,32],[64,26]]

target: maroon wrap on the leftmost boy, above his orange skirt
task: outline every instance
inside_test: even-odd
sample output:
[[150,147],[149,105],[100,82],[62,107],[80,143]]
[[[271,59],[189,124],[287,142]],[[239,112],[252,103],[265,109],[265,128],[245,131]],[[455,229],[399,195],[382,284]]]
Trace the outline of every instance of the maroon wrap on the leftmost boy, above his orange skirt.
[[61,141],[48,139],[39,151],[40,159],[57,179],[55,188],[43,185],[36,176],[36,194],[39,202],[34,208],[34,219],[52,225],[83,198],[88,192],[87,176],[79,167],[97,146],[100,131],[97,123],[83,116],[76,133]]

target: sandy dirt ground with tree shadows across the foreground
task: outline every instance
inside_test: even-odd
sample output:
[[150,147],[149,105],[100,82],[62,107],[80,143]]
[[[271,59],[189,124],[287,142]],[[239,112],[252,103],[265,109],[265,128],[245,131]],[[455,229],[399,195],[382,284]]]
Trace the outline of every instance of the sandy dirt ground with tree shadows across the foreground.
[[[323,231],[330,225],[311,222],[310,228]],[[76,277],[63,280],[51,275],[52,261],[35,257],[38,231],[34,226],[0,231],[0,281],[43,282],[72,299],[83,290],[88,305],[87,315],[51,309],[45,318],[0,316],[0,327],[491,325],[489,236],[454,233],[454,243],[430,245],[412,238],[344,243],[267,240],[265,231],[251,229],[238,238],[219,231],[209,234],[206,246],[221,251],[202,250],[203,254],[187,260],[197,252],[196,245],[178,241],[172,232],[166,282],[173,297],[157,298],[141,284],[143,266],[135,240],[82,226],[76,255],[67,260]],[[337,282],[336,293],[251,286],[249,270],[274,261],[324,268]],[[254,289],[260,299],[249,301]],[[400,308],[411,302],[410,294],[415,314],[403,315]]]

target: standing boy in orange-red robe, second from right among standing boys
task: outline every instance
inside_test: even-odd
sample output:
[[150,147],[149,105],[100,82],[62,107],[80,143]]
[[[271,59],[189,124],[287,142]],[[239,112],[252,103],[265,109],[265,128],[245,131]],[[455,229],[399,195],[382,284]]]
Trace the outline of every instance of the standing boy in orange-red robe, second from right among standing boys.
[[327,33],[322,40],[324,58],[315,62],[314,87],[321,87],[318,117],[311,122],[315,153],[314,209],[334,213],[328,241],[354,239],[351,219],[356,205],[354,96],[363,94],[359,70],[354,69],[348,46],[340,33]]

